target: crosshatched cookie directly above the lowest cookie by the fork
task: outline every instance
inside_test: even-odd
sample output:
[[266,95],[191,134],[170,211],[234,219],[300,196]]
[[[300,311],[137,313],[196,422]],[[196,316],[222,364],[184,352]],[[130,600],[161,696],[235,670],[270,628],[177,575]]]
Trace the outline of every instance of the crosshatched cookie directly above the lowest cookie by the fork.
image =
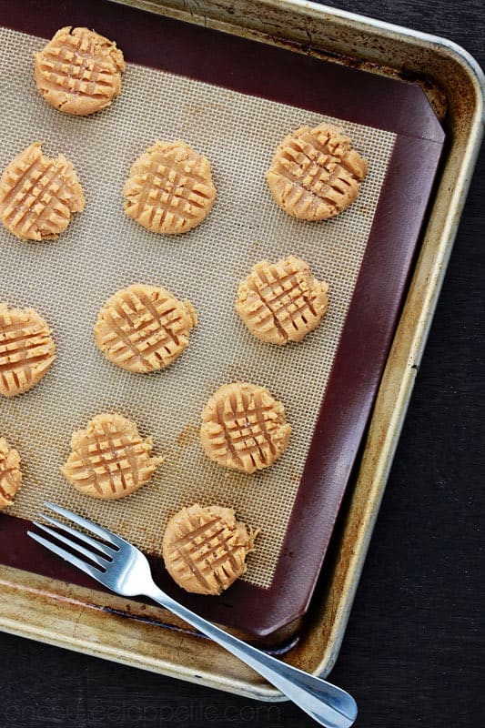
[[224,384],[202,412],[200,440],[211,460],[252,473],[272,465],[288,447],[285,409],[265,387]]

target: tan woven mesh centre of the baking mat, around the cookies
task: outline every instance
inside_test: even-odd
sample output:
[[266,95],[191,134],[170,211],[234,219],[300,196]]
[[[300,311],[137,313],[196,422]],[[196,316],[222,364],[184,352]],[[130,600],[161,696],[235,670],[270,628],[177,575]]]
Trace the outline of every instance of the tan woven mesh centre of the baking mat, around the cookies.
[[[273,202],[264,172],[288,131],[338,120],[134,64],[127,67],[122,96],[105,112],[64,116],[35,90],[32,54],[44,41],[2,29],[0,43],[1,167],[32,141],[43,141],[45,153],[63,152],[73,161],[86,192],[85,213],[56,241],[30,244],[0,231],[0,298],[37,308],[54,329],[58,351],[36,389],[0,405],[2,431],[21,451],[25,471],[9,512],[34,518],[48,498],[157,553],[167,518],[182,505],[233,506],[261,529],[245,578],[268,588],[395,135],[343,123],[369,160],[369,176],[346,213],[302,223]],[[177,238],[148,233],[122,211],[128,169],[157,138],[183,138],[213,166],[216,206],[205,223]],[[328,280],[330,306],[324,324],[301,345],[279,349],[253,339],[233,304],[238,280],[252,264],[290,253]],[[92,335],[106,298],[136,281],[189,298],[199,317],[187,352],[154,375],[116,369],[96,350]],[[255,476],[218,468],[198,443],[207,398],[233,379],[268,386],[285,403],[293,428],[285,456]],[[71,432],[103,410],[136,420],[144,435],[153,435],[155,451],[167,455],[153,480],[124,501],[87,500],[58,473]]]

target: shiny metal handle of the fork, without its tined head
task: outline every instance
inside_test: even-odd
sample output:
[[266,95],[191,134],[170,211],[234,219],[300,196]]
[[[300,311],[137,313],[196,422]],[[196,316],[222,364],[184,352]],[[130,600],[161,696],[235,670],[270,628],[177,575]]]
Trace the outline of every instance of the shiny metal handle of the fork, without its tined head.
[[207,622],[203,617],[175,602],[160,591],[155,583],[146,596],[177,614],[177,617],[191,624],[198,632],[206,634],[242,662],[246,662],[320,725],[326,728],[349,728],[357,718],[357,703],[349,693],[336,685],[281,662],[266,652],[261,652],[257,647],[224,632],[212,622]]

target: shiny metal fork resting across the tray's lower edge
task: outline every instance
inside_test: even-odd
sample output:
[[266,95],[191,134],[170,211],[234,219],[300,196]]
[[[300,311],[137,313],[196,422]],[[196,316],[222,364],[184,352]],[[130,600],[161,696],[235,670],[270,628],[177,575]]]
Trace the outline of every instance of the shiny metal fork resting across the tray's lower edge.
[[[76,513],[66,511],[65,508],[47,502],[45,506],[50,511],[54,511],[68,521],[73,521],[77,526],[81,526],[102,539],[102,542],[97,541],[91,536],[86,536],[86,533],[77,531],[66,523],[56,521],[51,516],[43,514],[42,517],[45,521],[55,526],[56,530],[44,523],[34,521],[35,526],[48,533],[56,541],[64,543],[77,555],[66,551],[52,541],[47,541],[37,533],[27,531],[31,538],[41,543],[46,549],[54,551],[57,556],[69,561],[81,571],[85,571],[86,574],[92,576],[96,581],[100,581],[111,591],[116,591],[117,594],[126,597],[147,596],[161,604],[162,607],[174,612],[199,632],[203,632],[228,652],[236,655],[239,660],[246,662],[293,703],[297,703],[320,725],[327,726],[327,728],[349,728],[354,723],[357,717],[357,703],[349,693],[330,682],[308,674],[308,672],[298,670],[286,662],[280,662],[266,652],[261,652],[256,647],[238,640],[232,634],[224,632],[215,624],[207,622],[203,617],[199,617],[198,614],[191,612],[187,607],[158,589],[152,579],[147,558],[131,543]],[[73,536],[76,541],[70,538]],[[78,541],[82,541],[86,546],[82,546]]]

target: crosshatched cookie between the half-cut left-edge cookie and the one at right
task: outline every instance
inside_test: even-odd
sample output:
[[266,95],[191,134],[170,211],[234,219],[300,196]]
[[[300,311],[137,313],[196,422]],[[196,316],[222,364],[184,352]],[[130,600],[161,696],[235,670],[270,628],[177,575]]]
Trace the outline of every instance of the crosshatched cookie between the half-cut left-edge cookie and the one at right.
[[197,325],[195,308],[166,288],[135,284],[118,290],[101,308],[95,326],[100,349],[121,369],[165,369],[187,349]]

